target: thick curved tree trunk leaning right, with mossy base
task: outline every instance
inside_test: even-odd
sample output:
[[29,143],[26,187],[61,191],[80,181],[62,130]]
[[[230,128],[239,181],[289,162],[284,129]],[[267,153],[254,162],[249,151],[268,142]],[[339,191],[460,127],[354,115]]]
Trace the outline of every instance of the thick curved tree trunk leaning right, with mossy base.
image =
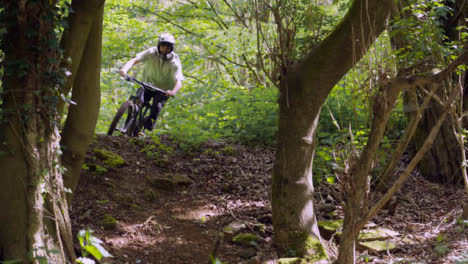
[[383,31],[394,1],[356,0],[342,23],[280,82],[278,146],[272,183],[275,242],[315,262],[323,257],[313,205],[312,163],[322,105]]

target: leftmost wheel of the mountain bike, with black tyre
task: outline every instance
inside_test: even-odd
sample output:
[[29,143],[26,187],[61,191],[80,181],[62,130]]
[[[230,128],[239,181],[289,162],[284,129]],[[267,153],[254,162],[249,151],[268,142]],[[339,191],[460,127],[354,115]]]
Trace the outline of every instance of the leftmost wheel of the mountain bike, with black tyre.
[[112,119],[107,135],[112,135],[118,131],[124,135],[133,134],[133,128],[136,120],[137,106],[132,101],[123,103]]

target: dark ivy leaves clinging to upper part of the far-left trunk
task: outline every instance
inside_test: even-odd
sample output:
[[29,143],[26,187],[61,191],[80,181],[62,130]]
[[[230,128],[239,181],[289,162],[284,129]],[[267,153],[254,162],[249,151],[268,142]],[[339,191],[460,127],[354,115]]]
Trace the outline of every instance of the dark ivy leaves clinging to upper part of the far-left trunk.
[[[0,73],[3,81],[10,85],[0,87],[0,123],[11,118],[9,113],[18,114],[21,117],[25,130],[28,127],[31,115],[34,114],[36,106],[21,105],[6,109],[3,105],[4,97],[9,94],[9,90],[21,89],[15,85],[26,85],[26,76],[33,78],[35,85],[24,87],[31,89],[31,95],[35,98],[31,102],[40,102],[41,116],[45,125],[56,126],[56,106],[59,102],[58,90],[64,83],[64,70],[59,67],[61,60],[61,50],[59,49],[59,39],[65,18],[68,15],[70,1],[61,0],[50,2],[49,4],[20,5],[14,2],[2,2],[0,7]],[[24,6],[24,5],[23,5]],[[34,13],[35,15],[31,15]],[[18,21],[21,21],[19,24]],[[40,25],[40,26],[39,26]],[[25,32],[18,33],[19,28],[27,27]],[[5,53],[14,54],[18,51],[18,36],[23,38],[26,45],[20,53],[23,56],[5,56]],[[34,77],[31,77],[34,76]],[[13,80],[13,81],[12,81]],[[31,83],[31,82],[29,82]],[[8,114],[7,114],[8,113]]]

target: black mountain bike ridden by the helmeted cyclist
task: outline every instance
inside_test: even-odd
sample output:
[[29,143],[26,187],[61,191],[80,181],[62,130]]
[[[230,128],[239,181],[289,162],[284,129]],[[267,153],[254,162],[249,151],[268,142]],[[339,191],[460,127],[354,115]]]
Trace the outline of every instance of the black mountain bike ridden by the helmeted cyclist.
[[138,136],[138,132],[142,130],[143,124],[149,118],[151,112],[151,105],[143,99],[145,89],[163,94],[166,94],[166,91],[154,87],[149,83],[139,81],[130,75],[126,75],[125,80],[137,83],[141,87],[117,110],[107,131],[107,135],[112,135],[115,131],[118,131],[120,134],[136,137]]

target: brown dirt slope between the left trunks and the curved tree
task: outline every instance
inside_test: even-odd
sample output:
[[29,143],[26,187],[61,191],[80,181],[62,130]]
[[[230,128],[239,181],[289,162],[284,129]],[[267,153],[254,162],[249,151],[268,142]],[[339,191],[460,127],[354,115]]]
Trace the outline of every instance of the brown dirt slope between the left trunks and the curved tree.
[[[73,202],[74,232],[94,230],[113,263],[208,263],[219,231],[241,221],[246,232],[265,238],[257,251],[267,253],[273,152],[222,143],[184,151],[167,138],[161,141],[152,148],[151,139],[97,137]],[[108,168],[96,158],[95,148],[120,155],[125,165]],[[165,181],[174,177],[189,182]],[[115,229],[103,227],[105,215],[118,221]],[[255,230],[258,226],[262,230]],[[219,252],[228,263],[252,254],[233,243],[223,243]],[[259,260],[270,257],[276,256]]]

